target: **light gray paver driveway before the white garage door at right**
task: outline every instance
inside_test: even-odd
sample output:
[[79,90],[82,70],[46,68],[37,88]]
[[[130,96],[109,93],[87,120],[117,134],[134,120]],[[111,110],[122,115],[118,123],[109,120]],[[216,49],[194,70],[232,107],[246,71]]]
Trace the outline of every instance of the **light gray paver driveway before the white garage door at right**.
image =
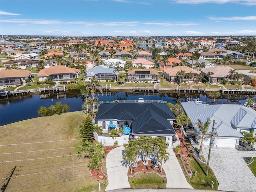
[[[204,147],[203,147],[204,148]],[[208,147],[203,149],[208,157]],[[243,157],[256,157],[255,151],[238,151],[234,148],[212,148],[210,167],[219,182],[218,190],[256,192],[256,177]]]

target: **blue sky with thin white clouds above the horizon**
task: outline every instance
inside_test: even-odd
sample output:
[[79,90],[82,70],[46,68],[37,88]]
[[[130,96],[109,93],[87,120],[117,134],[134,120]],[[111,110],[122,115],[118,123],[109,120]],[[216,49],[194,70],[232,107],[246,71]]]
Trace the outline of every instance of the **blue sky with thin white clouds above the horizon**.
[[256,35],[256,0],[1,0],[3,35]]

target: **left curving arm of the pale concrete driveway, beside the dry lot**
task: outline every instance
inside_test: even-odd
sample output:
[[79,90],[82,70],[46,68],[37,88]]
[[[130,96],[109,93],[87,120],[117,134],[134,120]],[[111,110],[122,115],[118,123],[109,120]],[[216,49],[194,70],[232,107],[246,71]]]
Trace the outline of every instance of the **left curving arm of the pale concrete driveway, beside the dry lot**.
[[106,191],[131,187],[127,175],[129,167],[122,165],[122,150],[124,150],[123,146],[117,147],[112,149],[107,155],[108,186]]

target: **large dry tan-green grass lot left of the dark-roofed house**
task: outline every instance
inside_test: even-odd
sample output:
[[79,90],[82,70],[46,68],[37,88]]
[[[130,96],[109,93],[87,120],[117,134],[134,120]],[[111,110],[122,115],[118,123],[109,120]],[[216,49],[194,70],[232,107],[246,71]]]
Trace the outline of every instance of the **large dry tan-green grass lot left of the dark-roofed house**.
[[1,126],[0,185],[15,168],[6,191],[98,191],[88,160],[76,156],[84,118],[79,111]]

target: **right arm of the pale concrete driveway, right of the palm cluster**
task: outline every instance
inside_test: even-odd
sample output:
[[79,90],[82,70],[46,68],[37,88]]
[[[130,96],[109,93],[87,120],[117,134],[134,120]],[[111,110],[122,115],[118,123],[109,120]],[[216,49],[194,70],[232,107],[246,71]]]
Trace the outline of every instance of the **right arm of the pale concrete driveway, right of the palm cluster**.
[[[179,140],[176,141],[176,144],[180,143]],[[169,159],[163,164],[163,169],[166,174],[166,188],[184,188],[184,189],[193,189],[190,184],[188,184],[186,177],[180,167],[178,159],[172,148],[175,148],[176,145],[170,145],[167,151],[170,153]]]

